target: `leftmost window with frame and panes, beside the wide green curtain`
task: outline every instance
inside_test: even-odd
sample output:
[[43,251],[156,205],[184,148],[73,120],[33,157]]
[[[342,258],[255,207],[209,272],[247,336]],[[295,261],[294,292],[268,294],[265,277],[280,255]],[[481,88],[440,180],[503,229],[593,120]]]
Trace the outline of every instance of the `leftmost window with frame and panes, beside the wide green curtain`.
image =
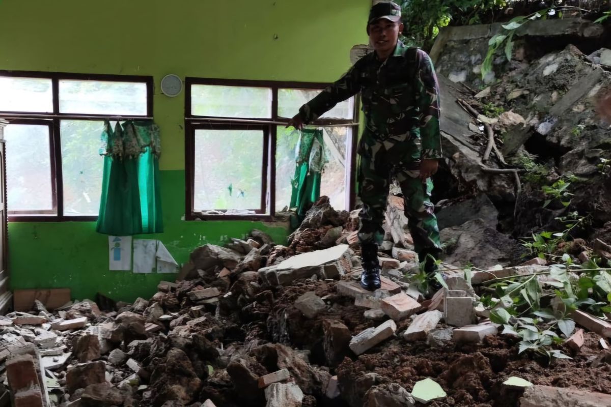
[[0,72],[10,220],[95,220],[105,118],[152,116],[153,79]]

